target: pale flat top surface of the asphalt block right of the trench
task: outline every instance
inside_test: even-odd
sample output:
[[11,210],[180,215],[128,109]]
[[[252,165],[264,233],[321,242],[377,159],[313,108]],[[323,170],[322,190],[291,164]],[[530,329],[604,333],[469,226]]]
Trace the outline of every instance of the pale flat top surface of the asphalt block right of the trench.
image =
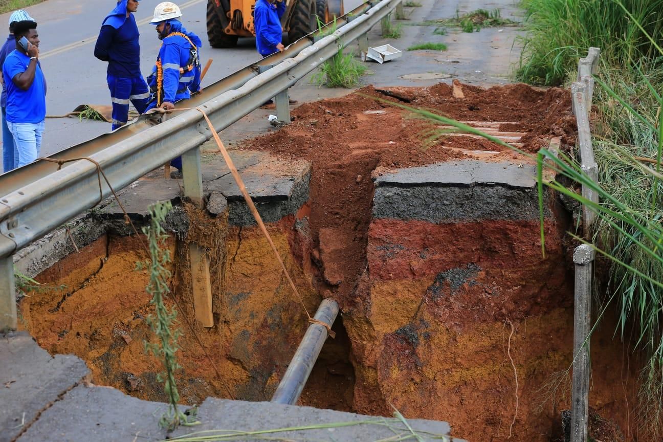
[[503,186],[532,189],[536,186],[535,177],[536,166],[533,164],[463,160],[400,169],[377,177],[375,186]]

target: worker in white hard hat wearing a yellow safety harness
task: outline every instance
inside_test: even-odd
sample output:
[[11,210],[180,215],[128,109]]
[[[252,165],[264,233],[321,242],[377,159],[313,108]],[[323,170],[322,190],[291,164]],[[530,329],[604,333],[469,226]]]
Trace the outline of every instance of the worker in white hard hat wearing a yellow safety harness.
[[[151,91],[147,109],[160,107],[169,111],[175,108],[176,101],[189,99],[191,93],[200,90],[202,42],[182,26],[179,17],[182,17],[180,8],[170,1],[154,8],[150,24],[156,25],[162,44],[152,74],[147,78]],[[182,170],[182,158],[175,158],[170,165]]]

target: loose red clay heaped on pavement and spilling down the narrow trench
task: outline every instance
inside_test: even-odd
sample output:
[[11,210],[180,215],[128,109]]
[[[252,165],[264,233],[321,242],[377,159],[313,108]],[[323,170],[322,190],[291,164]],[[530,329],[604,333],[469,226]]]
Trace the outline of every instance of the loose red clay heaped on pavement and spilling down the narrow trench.
[[371,174],[472,158],[475,152],[471,151],[480,150],[501,152],[491,160],[524,160],[484,139],[455,136],[428,143],[428,131],[440,123],[416,118],[398,105],[428,109],[459,121],[503,122],[505,130],[526,133],[519,140],[526,152],[537,152],[554,136],[562,137],[562,148],[575,143],[566,89],[541,90],[524,84],[461,87],[463,99],[453,97],[446,83],[393,87],[389,95],[367,86],[345,97],[301,105],[292,112],[290,125],[251,142],[252,149],[312,163],[310,226],[319,287],[331,290],[341,305],[367,267]]

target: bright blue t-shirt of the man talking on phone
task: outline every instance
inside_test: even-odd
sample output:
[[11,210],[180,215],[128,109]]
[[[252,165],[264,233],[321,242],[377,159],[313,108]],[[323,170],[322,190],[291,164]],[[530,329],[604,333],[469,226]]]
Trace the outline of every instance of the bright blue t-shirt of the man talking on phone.
[[11,123],[41,123],[46,118],[46,88],[40,66],[37,64],[34,81],[27,91],[12,80],[25,72],[29,64],[29,56],[13,50],[2,66],[3,80],[7,85],[7,121]]

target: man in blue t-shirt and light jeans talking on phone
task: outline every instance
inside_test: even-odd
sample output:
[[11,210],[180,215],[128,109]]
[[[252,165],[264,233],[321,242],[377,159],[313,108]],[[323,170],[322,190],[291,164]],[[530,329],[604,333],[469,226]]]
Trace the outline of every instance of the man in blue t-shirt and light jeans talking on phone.
[[[19,151],[19,167],[36,160],[41,149],[46,117],[46,84],[37,62],[39,34],[34,21],[14,25],[16,49],[9,53],[2,67],[7,85],[7,127]],[[27,38],[27,49],[21,38]]]

